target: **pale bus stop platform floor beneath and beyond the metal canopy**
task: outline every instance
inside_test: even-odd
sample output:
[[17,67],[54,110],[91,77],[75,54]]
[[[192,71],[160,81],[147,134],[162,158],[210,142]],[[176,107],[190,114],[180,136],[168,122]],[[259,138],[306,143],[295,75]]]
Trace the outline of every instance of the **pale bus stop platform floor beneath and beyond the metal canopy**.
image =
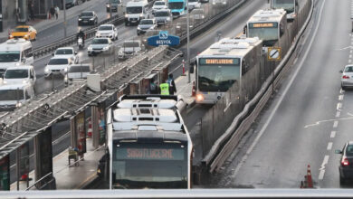
[[[188,82],[187,73],[176,78],[176,94],[181,95],[183,100],[187,103],[187,108],[194,106],[195,97],[192,97],[193,81],[195,81],[195,74],[191,74],[191,81]],[[189,130],[192,134],[191,129]],[[101,146],[95,149],[92,145],[92,139],[87,138],[86,140],[87,152],[84,154],[83,159],[77,161],[79,164],[75,166],[75,162],[72,160],[69,166],[69,149],[65,149],[57,156],[52,158],[52,175],[55,177],[56,189],[68,190],[68,189],[83,189],[90,185],[98,177],[97,168],[100,158],[105,153],[105,146]],[[32,171],[28,177],[29,179],[29,190],[36,190],[37,188],[33,185],[35,182],[34,171]],[[20,181],[19,190],[27,189],[27,181]],[[17,190],[17,182],[14,182],[10,186],[11,191]]]

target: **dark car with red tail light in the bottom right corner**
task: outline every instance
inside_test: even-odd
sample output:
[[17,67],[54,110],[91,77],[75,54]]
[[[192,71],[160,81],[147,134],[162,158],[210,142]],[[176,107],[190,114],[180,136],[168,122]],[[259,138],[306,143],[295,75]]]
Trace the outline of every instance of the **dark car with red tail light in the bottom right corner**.
[[339,160],[339,184],[344,185],[347,179],[353,179],[353,141],[345,144],[342,150],[336,150],[341,154]]

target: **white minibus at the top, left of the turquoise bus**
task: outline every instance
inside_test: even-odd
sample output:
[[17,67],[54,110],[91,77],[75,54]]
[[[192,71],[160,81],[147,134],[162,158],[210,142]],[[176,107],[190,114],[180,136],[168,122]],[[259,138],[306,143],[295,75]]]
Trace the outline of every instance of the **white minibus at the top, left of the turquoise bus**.
[[141,19],[147,19],[147,0],[132,0],[126,5],[125,25],[138,24]]

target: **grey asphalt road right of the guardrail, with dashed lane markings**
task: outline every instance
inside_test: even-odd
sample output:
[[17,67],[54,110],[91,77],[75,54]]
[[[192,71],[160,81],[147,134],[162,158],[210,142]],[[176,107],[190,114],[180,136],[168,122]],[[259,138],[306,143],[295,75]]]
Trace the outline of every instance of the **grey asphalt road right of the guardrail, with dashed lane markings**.
[[352,90],[340,89],[352,63],[352,1],[316,1],[302,52],[243,144],[206,186],[299,188],[310,165],[314,185],[339,185],[339,155],[352,140]]

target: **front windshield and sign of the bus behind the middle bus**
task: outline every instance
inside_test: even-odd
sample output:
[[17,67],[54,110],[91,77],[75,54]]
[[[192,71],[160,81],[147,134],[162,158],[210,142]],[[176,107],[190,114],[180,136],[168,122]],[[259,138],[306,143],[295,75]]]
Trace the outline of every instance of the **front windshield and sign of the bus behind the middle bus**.
[[249,23],[248,37],[259,37],[263,45],[272,46],[280,38],[278,23]]

